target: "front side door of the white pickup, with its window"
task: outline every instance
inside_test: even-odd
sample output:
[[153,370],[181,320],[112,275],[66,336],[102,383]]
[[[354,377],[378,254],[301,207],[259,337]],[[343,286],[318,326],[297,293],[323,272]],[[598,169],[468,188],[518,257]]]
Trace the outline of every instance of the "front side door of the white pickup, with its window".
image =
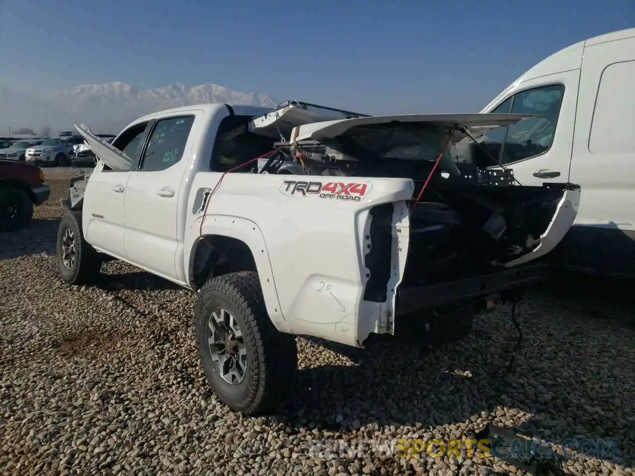
[[[112,145],[138,162],[149,124],[150,121],[145,121],[130,126]],[[96,248],[125,259],[123,202],[131,171],[113,170],[104,162],[100,162],[98,168],[88,180],[84,197],[86,239]]]

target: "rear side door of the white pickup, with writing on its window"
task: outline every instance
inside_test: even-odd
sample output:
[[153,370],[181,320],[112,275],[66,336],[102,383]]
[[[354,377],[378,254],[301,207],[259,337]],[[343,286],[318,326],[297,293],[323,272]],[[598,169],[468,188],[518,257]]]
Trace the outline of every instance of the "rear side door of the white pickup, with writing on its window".
[[202,115],[196,109],[157,115],[138,169],[131,173],[126,187],[124,246],[128,260],[178,282],[178,212],[187,209],[189,198],[187,190],[180,193],[180,188],[196,139],[195,119]]

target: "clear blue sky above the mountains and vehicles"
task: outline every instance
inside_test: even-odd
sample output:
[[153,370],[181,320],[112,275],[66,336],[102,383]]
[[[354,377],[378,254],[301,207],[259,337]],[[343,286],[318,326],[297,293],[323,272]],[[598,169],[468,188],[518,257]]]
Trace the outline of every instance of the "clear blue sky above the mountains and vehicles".
[[478,112],[634,0],[0,0],[0,84],[215,83],[369,114]]

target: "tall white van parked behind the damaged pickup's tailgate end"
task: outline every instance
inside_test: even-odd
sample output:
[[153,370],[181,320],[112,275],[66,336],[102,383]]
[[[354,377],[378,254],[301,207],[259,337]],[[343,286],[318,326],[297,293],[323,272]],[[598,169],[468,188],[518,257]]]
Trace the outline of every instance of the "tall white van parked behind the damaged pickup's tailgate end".
[[[544,116],[493,129],[479,142],[523,185],[582,187],[562,244],[568,267],[635,276],[635,28],[554,53],[481,112]],[[493,163],[478,149],[472,159]]]

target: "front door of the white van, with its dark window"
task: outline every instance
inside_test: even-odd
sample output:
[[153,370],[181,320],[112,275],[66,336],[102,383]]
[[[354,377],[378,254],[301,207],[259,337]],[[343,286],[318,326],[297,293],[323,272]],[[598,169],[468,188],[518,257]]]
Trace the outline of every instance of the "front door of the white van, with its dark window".
[[524,81],[488,111],[543,116],[484,136],[486,148],[523,185],[568,180],[579,80],[580,70],[571,70]]

